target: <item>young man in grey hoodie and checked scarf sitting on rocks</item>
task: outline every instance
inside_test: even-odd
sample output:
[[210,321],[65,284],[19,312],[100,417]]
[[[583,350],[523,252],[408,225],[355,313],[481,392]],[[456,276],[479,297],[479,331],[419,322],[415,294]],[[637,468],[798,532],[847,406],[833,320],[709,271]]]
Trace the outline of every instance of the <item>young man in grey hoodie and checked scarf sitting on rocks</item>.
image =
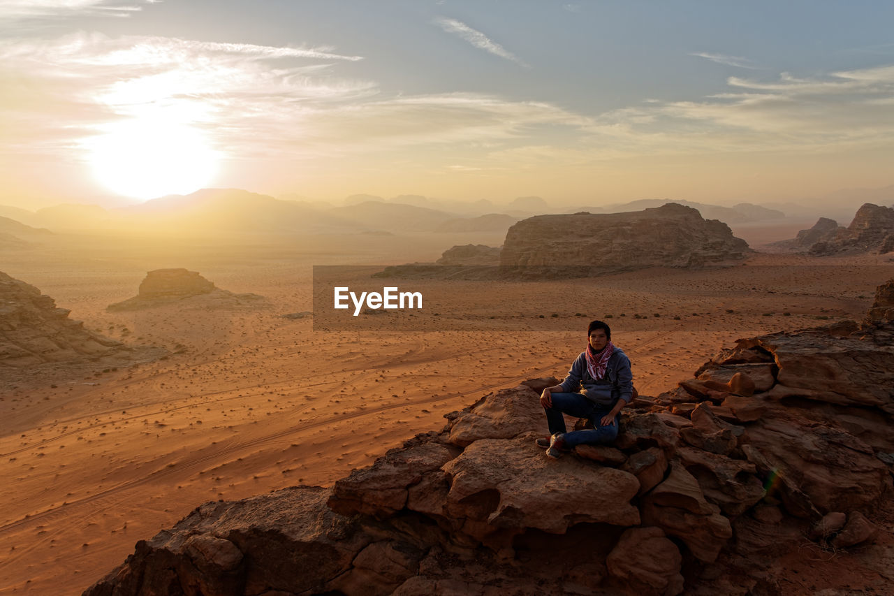
[[[551,436],[538,438],[537,445],[553,459],[583,443],[611,443],[618,436],[618,413],[633,398],[630,360],[611,343],[611,328],[595,320],[586,334],[586,350],[565,380],[540,394]],[[586,418],[594,428],[566,432],[563,413]]]

